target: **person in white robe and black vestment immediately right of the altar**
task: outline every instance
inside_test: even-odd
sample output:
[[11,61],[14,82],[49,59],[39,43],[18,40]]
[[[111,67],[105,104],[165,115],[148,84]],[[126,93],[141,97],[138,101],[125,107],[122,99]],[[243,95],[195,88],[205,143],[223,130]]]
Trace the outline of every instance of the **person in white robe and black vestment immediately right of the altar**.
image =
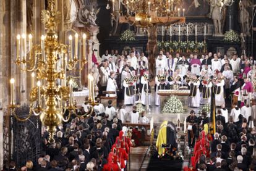
[[194,75],[192,80],[189,82],[190,86],[190,107],[199,107],[200,106],[200,91],[199,91],[200,80],[197,78],[197,75]]

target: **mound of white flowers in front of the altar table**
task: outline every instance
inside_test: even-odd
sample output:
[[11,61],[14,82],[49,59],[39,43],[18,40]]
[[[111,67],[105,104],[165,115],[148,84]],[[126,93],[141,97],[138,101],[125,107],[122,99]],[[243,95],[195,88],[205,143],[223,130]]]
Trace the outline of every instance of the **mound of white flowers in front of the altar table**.
[[181,113],[184,112],[182,102],[177,98],[177,96],[171,96],[168,101],[164,104],[164,113]]

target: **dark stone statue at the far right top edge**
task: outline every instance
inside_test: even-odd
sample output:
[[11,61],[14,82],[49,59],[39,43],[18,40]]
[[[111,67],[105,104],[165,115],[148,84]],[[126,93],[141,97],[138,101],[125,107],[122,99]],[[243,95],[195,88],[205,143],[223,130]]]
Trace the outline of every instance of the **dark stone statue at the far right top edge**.
[[241,33],[243,33],[244,35],[250,34],[250,14],[247,8],[251,5],[252,2],[249,0],[243,0],[239,2],[239,23],[241,25]]

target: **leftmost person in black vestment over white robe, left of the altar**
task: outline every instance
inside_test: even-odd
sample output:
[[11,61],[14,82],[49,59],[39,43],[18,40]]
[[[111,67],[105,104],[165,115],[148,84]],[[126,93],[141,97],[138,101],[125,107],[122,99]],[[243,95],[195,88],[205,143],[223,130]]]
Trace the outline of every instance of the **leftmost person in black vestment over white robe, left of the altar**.
[[134,104],[134,81],[130,75],[124,79],[124,104]]

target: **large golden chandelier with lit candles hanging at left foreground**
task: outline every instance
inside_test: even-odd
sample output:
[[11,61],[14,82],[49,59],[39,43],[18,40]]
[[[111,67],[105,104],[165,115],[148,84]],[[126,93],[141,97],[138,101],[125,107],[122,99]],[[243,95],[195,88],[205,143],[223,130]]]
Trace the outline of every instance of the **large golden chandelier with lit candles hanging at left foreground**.
[[[54,141],[56,127],[62,122],[67,122],[71,114],[75,114],[75,102],[72,90],[72,79],[67,85],[66,70],[79,70],[87,63],[86,35],[82,36],[82,56],[78,54],[79,35],[75,33],[74,38],[69,35],[69,44],[62,44],[56,34],[56,25],[60,21],[60,14],[56,12],[54,0],[48,0],[48,9],[41,12],[42,22],[46,27],[46,35],[41,36],[41,44],[33,46],[32,35],[17,35],[17,57],[15,63],[24,72],[32,72],[32,90],[30,91],[30,113],[26,118],[20,118],[15,114],[14,102],[14,78],[11,83],[11,114],[19,121],[25,121],[32,114],[40,116],[43,125],[49,131],[49,142]],[[28,37],[28,51],[27,51]],[[73,43],[74,41],[74,43]],[[74,51],[73,51],[74,47]],[[36,77],[36,78],[35,78]],[[89,78],[89,101],[92,106],[94,102],[93,78]],[[35,86],[35,81],[37,81]],[[61,84],[60,84],[61,82]],[[88,113],[77,115],[78,117],[90,115],[93,107]],[[64,118],[66,111],[67,118]]]

